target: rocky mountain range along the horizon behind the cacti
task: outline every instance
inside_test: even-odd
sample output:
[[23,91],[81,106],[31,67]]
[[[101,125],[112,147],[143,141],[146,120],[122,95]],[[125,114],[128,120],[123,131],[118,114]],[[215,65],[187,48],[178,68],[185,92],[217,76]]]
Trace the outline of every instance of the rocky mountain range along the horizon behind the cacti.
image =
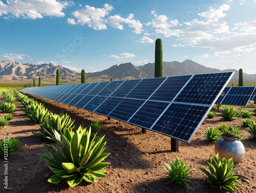
[[[42,81],[55,81],[56,70],[60,71],[61,82],[79,83],[81,73],[72,71],[62,66],[54,66],[52,63],[43,63],[35,65],[33,63],[20,63],[15,61],[5,60],[0,62],[0,81],[24,81],[42,78]],[[230,82],[238,82],[239,73],[237,70],[229,69],[224,71],[234,71]],[[221,70],[208,68],[200,65],[192,60],[185,60],[183,62],[171,61],[163,62],[164,76],[177,76],[186,74],[201,74],[222,72]],[[114,65],[109,69],[100,72],[86,73],[87,82],[95,81],[109,81],[124,80],[134,78],[151,78],[154,77],[155,63],[147,63],[143,66],[134,66],[132,63],[121,63]],[[256,82],[256,74],[249,75],[243,73],[244,82]]]

